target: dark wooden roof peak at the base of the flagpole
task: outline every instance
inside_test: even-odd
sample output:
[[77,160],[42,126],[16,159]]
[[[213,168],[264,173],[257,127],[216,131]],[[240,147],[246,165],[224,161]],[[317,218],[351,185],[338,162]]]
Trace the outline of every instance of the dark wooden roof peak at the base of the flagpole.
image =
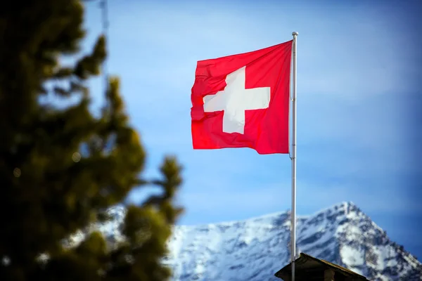
[[[328,268],[335,272],[335,280],[369,281],[363,275],[359,275],[352,270],[330,263],[329,261],[324,261],[323,259],[316,259],[305,253],[300,253],[300,257],[295,261],[295,279],[309,281],[324,280],[324,275],[320,275]],[[283,280],[290,280],[291,272],[291,263],[289,263],[287,266],[281,268],[275,276]]]

